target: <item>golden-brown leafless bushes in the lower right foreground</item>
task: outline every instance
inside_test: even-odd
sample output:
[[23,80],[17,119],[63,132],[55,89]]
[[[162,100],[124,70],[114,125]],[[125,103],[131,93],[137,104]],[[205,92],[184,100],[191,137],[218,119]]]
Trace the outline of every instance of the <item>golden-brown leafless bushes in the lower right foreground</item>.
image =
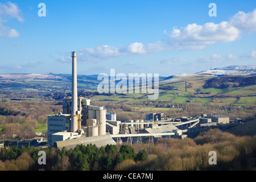
[[[210,151],[216,152],[217,164],[210,165]],[[151,158],[151,155],[154,155]],[[201,133],[195,139],[159,139],[148,152],[148,160],[131,168],[164,171],[255,170],[256,136],[236,137],[219,129]]]

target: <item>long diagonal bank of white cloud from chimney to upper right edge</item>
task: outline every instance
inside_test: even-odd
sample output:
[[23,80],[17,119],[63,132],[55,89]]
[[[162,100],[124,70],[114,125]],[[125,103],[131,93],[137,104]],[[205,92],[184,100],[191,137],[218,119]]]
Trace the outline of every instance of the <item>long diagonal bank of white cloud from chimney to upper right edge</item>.
[[[222,21],[220,23],[209,22],[203,25],[192,23],[181,28],[174,27],[170,34],[167,34],[167,31],[164,30],[167,38],[155,43],[143,44],[141,42],[134,42],[123,47],[101,45],[96,48],[81,49],[79,56],[81,61],[94,63],[94,61],[101,61],[117,56],[147,55],[154,52],[171,51],[173,49],[204,49],[207,45],[217,42],[234,42],[238,38],[241,38],[241,32],[245,30],[256,31],[256,9],[247,14],[240,11],[228,21]],[[251,54],[256,56],[255,52]],[[61,57],[59,61],[66,62],[68,59]],[[209,61],[222,61],[222,59],[224,58],[218,55],[209,55],[206,57],[206,60]],[[229,55],[226,59],[237,59],[237,57]]]

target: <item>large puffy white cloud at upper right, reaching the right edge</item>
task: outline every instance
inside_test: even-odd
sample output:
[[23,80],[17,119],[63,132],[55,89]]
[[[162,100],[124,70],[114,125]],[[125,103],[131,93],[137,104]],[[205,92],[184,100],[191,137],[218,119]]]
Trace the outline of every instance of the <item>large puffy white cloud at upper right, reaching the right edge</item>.
[[177,49],[203,49],[216,42],[233,42],[240,38],[242,31],[256,31],[256,9],[249,13],[239,11],[230,20],[217,24],[192,23],[173,28],[169,36],[172,38],[170,44]]

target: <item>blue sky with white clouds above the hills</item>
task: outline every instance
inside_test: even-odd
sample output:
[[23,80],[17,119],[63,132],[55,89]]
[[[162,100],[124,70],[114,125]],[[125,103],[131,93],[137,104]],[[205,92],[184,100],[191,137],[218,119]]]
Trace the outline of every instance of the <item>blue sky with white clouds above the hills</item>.
[[255,9],[254,0],[1,1],[0,73],[71,73],[72,51],[82,75],[255,64]]

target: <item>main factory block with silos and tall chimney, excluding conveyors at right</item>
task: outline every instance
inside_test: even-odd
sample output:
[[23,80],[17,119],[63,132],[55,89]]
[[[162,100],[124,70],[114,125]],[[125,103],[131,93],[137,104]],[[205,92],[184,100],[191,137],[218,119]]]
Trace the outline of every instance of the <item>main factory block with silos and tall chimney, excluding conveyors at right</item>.
[[115,143],[110,134],[99,137],[106,135],[105,108],[92,106],[90,100],[77,97],[76,52],[72,52],[72,97],[64,98],[63,113],[48,116],[47,135],[48,143],[55,147],[86,142],[101,147]]

